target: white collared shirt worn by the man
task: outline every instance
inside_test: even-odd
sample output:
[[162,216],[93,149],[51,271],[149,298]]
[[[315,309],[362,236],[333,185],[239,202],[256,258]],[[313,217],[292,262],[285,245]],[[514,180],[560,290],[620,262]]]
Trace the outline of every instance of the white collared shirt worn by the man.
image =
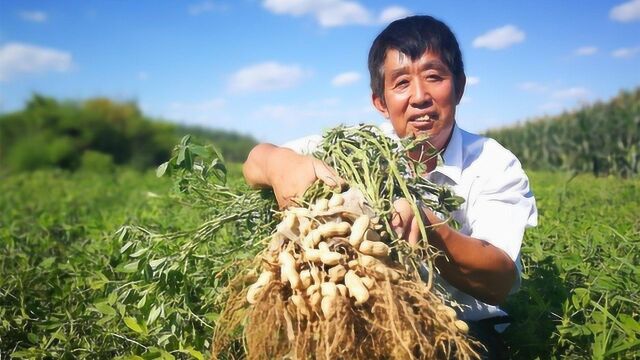
[[[388,122],[380,128],[397,138]],[[308,154],[321,140],[321,136],[313,135],[283,146]],[[520,247],[524,230],[536,226],[538,219],[536,202],[520,162],[497,141],[471,134],[457,124],[442,159],[442,164],[429,173],[429,180],[450,186],[456,195],[465,199],[460,209],[452,214],[460,224],[462,234],[489,242],[515,262],[518,278],[511,293],[515,292],[521,282]],[[436,276],[436,284],[462,306],[460,318],[463,320],[506,315],[499,307],[475,299],[439,276]]]

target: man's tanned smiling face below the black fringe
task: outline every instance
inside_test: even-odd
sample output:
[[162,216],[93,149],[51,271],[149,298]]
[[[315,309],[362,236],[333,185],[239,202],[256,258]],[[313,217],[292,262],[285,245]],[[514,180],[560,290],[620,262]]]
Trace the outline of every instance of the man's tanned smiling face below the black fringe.
[[453,73],[432,52],[416,61],[395,49],[384,61],[384,98],[373,96],[373,104],[390,119],[399,137],[427,137],[441,150],[453,129],[456,105],[462,98],[464,79],[458,86]]

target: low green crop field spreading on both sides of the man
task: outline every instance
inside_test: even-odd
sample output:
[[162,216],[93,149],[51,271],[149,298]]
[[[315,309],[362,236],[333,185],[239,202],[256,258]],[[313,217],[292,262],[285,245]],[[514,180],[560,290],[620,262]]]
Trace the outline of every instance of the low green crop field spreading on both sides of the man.
[[[531,180],[540,226],[526,235],[523,287],[507,303],[514,357],[633,358],[640,182],[542,172]],[[224,211],[167,196],[171,188],[130,170],[3,178],[0,357],[207,358],[226,267],[252,256],[219,249],[251,235],[221,229],[199,244],[155,236]]]

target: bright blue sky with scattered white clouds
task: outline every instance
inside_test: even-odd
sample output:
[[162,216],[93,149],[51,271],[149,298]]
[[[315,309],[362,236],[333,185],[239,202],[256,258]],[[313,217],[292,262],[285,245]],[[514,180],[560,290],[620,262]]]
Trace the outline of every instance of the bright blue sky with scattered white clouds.
[[276,144],[381,123],[369,47],[413,14],[456,34],[472,132],[640,86],[640,0],[0,0],[0,112],[106,96]]

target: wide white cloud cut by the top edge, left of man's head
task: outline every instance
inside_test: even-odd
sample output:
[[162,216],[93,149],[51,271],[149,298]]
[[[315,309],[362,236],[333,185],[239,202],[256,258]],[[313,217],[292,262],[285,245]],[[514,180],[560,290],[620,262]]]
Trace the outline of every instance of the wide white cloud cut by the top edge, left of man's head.
[[264,0],[262,5],[279,15],[313,16],[323,27],[371,24],[372,16],[360,3],[347,0]]

